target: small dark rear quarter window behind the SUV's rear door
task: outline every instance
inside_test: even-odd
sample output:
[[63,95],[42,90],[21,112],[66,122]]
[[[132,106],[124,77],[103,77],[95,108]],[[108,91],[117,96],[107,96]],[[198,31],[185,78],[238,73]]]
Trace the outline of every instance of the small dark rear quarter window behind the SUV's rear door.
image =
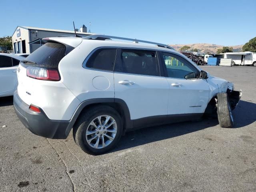
[[116,48],[101,48],[90,56],[89,60],[86,62],[86,67],[113,71],[115,60]]

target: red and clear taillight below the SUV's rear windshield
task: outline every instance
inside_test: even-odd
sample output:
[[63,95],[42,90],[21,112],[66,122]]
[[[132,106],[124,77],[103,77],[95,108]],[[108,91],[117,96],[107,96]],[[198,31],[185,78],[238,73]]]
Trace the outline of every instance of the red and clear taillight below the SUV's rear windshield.
[[27,76],[39,79],[39,80],[48,80],[48,81],[59,81],[60,75],[58,70],[50,68],[40,68],[35,66],[27,67]]

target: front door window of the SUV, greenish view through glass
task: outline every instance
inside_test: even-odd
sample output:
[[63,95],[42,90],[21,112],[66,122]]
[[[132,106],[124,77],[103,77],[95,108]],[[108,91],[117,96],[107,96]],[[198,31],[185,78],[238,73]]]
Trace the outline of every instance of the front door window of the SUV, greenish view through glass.
[[162,52],[162,57],[168,77],[180,79],[194,79],[199,77],[198,70],[181,56]]

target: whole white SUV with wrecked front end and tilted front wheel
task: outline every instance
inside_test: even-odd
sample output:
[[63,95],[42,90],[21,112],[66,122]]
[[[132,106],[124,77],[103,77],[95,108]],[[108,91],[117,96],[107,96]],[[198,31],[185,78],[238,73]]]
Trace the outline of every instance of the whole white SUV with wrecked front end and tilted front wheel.
[[136,128],[217,112],[220,126],[234,125],[241,92],[169,46],[100,35],[44,41],[20,62],[14,94],[16,114],[36,135],[64,139],[73,128],[76,144],[97,155]]

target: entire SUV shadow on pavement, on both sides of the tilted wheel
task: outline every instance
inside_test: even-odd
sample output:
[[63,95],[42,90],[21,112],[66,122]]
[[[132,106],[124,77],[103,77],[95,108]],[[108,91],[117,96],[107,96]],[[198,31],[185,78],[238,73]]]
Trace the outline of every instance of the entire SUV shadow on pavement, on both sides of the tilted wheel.
[[[234,128],[250,125],[256,121],[256,104],[241,100],[233,114],[235,119]],[[127,132],[120,140],[118,146],[110,151],[110,153],[196,132],[218,124],[219,122],[217,118],[204,118],[198,122],[181,122]]]

